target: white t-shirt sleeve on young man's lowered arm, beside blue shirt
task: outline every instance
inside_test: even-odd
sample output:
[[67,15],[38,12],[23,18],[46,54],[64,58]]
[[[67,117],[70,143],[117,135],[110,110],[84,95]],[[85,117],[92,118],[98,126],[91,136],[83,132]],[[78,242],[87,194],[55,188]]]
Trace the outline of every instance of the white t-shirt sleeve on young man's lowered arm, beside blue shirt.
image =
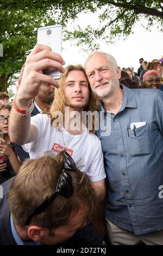
[[96,145],[92,150],[92,162],[86,174],[90,176],[91,181],[100,181],[106,177],[101,141],[98,138],[96,138]]

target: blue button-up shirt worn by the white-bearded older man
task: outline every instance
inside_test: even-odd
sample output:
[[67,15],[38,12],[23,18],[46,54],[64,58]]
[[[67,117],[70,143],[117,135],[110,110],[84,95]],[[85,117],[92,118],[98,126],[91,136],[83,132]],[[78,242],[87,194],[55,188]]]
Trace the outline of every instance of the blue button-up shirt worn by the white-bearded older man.
[[[123,104],[116,115],[111,113],[110,136],[97,132],[108,178],[105,216],[141,235],[163,229],[163,93],[121,87]],[[137,122],[146,123],[130,129]]]

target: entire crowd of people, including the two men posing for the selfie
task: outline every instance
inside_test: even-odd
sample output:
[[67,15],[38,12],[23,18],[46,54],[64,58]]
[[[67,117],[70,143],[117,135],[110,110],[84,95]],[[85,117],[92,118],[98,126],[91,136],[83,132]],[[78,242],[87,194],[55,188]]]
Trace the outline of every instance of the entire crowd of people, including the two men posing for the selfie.
[[139,62],[34,47],[0,93],[0,245],[163,245],[163,59]]

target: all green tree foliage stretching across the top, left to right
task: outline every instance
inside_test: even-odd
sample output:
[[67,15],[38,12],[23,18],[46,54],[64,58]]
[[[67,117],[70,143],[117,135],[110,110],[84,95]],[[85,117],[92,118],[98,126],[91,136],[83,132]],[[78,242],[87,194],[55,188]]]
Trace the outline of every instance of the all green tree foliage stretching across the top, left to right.
[[[81,13],[96,15],[98,26],[78,25]],[[61,23],[64,39],[88,50],[98,48],[96,40],[113,42],[134,31],[134,24],[147,20],[146,28],[157,24],[162,31],[163,1],[161,0],[1,0],[0,1],[0,87],[6,91],[14,74],[20,71],[28,52],[36,44],[37,28]],[[76,21],[76,22],[75,22]],[[67,26],[68,23],[68,26]],[[74,26],[74,23],[77,23]],[[76,40],[74,40],[76,39]]]

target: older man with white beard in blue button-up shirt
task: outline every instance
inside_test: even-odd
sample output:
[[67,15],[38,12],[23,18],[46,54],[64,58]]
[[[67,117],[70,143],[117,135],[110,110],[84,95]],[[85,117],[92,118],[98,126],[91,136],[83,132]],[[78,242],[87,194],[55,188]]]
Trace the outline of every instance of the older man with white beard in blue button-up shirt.
[[97,132],[108,178],[105,217],[111,244],[163,245],[163,93],[120,85],[121,69],[107,53],[92,52],[85,71],[101,97],[101,111],[111,114],[110,136]]

